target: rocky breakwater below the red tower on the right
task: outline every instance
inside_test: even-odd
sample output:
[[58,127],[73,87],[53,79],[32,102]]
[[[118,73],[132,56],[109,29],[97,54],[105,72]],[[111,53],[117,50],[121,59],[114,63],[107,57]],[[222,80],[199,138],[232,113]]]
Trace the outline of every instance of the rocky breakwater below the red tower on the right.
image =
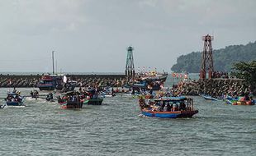
[[209,94],[220,97],[224,94],[242,96],[245,93],[256,94],[256,90],[241,79],[212,79],[212,80],[192,80],[181,82],[173,87],[174,94],[200,95]]

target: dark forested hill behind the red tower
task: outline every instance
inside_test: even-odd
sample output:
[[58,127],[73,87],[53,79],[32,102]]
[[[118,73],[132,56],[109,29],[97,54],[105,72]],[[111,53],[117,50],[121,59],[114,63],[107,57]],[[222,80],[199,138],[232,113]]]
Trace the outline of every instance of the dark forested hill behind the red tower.
[[[215,71],[231,71],[234,62],[256,60],[256,41],[246,45],[230,45],[213,50],[213,66]],[[177,58],[171,68],[174,72],[200,72],[201,52],[192,52]]]

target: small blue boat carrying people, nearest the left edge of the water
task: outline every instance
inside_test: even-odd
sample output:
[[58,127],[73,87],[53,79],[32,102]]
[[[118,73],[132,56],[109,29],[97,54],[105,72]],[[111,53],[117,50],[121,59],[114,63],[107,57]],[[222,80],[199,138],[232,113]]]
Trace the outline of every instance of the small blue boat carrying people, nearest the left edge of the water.
[[25,106],[23,104],[24,97],[22,97],[19,93],[7,93],[7,106]]

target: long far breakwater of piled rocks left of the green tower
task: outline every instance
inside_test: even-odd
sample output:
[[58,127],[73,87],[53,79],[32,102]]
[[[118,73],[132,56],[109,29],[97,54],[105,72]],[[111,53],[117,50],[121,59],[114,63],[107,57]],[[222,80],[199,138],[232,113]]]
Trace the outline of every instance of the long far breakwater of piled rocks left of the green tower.
[[[0,87],[36,87],[42,75],[0,75]],[[77,87],[112,86],[118,87],[126,83],[125,75],[66,75],[70,80],[76,80]]]

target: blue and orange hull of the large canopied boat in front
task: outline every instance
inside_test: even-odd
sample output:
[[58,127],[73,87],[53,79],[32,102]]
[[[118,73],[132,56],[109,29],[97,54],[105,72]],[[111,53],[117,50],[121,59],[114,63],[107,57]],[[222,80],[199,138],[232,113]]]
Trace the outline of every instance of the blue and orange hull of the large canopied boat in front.
[[192,117],[198,113],[198,110],[194,111],[174,111],[174,112],[155,112],[146,109],[141,110],[142,114],[147,117],[160,117],[160,118],[179,118],[179,117]]

